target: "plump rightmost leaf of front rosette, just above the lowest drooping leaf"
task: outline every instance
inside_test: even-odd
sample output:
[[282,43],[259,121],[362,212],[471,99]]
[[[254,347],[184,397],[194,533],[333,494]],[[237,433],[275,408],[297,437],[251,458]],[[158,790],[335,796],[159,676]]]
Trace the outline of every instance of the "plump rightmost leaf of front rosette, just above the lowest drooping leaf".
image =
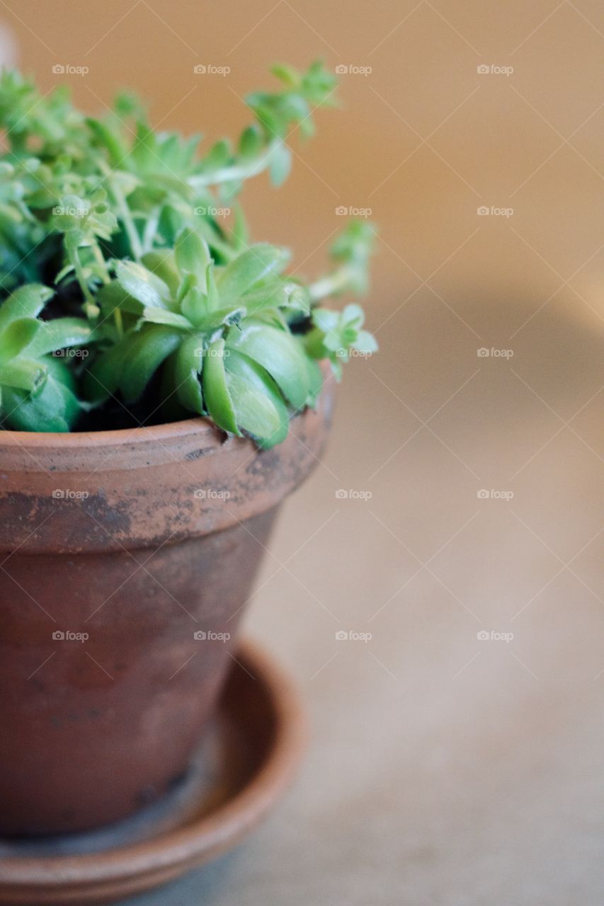
[[306,406],[310,390],[306,357],[291,333],[246,322],[240,333],[229,332],[228,348],[243,352],[268,371],[294,409]]

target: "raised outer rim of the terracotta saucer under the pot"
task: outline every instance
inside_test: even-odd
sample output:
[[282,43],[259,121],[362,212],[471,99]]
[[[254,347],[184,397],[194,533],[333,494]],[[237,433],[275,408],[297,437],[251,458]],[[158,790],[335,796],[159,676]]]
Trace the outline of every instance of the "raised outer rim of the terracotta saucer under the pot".
[[[95,885],[102,885],[104,895],[109,895],[112,884],[117,884],[121,896],[132,896],[209,862],[258,824],[291,782],[307,739],[307,719],[296,686],[262,646],[242,641],[238,660],[247,672],[254,671],[254,681],[261,683],[275,718],[266,760],[238,795],[197,821],[140,843],[101,853],[4,857],[0,888],[24,894],[38,886],[46,897],[51,891],[63,895],[80,891],[88,902],[85,894],[101,892]],[[5,900],[0,896],[0,901]]]

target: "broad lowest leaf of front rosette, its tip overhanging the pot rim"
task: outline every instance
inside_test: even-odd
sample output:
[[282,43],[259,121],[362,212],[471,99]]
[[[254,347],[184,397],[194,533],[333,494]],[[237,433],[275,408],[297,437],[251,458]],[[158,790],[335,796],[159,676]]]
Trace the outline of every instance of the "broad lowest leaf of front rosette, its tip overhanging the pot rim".
[[239,428],[267,449],[285,440],[289,428],[287,406],[268,373],[238,352],[231,352],[225,367]]

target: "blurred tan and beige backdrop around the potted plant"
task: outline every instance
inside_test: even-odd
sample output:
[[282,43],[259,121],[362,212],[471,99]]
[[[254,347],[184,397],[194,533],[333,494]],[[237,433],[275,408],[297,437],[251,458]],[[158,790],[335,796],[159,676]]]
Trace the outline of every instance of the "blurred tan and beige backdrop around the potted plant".
[[604,7],[0,16],[5,60],[44,91],[68,81],[93,112],[131,86],[156,125],[209,142],[248,124],[271,63],[323,57],[342,109],[292,136],[278,192],[248,184],[253,237],[316,275],[338,209],[380,226],[380,352],[347,367],[248,615],[304,690],[305,766],[238,852],[139,902],[601,906]]

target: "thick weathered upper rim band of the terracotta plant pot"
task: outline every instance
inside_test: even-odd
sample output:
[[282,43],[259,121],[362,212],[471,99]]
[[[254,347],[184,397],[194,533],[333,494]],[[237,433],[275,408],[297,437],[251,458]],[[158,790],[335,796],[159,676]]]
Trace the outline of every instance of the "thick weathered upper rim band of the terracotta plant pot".
[[317,464],[332,403],[258,450],[207,419],[91,434],[0,432],[0,552],[117,551],[208,535],[276,506]]

